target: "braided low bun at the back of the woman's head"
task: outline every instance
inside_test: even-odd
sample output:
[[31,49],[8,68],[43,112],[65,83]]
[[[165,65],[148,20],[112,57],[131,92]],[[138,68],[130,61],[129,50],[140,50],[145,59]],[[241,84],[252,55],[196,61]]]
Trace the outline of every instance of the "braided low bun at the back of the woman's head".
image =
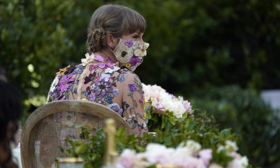
[[88,32],[87,40],[88,50],[93,52],[106,48],[106,31],[103,28],[97,28]]

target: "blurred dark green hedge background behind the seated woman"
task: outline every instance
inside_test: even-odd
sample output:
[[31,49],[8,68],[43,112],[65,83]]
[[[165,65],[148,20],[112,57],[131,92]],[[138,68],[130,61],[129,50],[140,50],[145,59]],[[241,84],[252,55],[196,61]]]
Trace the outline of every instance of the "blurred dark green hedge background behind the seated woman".
[[146,18],[150,47],[135,71],[143,83],[232,127],[254,167],[277,165],[280,112],[260,93],[280,89],[279,0],[1,0],[0,68],[21,92],[23,122],[46,102],[55,73],[85,57],[90,17],[107,3]]

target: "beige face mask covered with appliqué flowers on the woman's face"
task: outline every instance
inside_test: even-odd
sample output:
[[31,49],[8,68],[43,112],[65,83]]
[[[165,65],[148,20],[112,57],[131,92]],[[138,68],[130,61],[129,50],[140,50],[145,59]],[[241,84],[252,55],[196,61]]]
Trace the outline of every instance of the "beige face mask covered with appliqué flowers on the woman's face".
[[146,49],[149,47],[149,43],[119,39],[117,47],[111,51],[120,62],[120,66],[124,65],[129,70],[134,71],[143,62],[143,57],[147,54]]

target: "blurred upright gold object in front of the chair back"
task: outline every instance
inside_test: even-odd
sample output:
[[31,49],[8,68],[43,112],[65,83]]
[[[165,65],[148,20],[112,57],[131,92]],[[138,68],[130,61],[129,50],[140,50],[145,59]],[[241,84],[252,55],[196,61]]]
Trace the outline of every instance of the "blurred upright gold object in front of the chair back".
[[118,156],[115,144],[116,124],[114,119],[107,119],[105,121],[106,133],[106,151],[104,156],[103,167],[115,167],[115,160]]

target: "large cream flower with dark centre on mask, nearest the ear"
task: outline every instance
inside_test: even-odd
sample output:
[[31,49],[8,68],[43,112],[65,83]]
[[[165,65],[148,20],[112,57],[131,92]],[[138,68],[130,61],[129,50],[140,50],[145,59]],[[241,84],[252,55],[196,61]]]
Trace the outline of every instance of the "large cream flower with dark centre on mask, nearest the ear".
[[122,63],[127,63],[131,59],[133,51],[126,45],[121,45],[114,54],[117,60],[121,61]]

